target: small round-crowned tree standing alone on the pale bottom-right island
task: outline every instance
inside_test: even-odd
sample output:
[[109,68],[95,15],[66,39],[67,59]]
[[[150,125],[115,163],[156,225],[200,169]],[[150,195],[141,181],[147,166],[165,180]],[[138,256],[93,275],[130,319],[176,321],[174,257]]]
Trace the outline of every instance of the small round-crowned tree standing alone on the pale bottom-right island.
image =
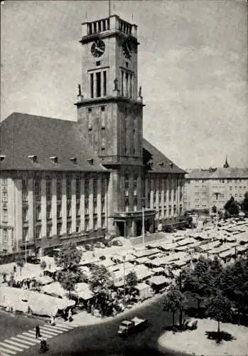
[[231,317],[232,303],[221,290],[216,290],[216,293],[206,300],[205,307],[206,315],[217,320],[217,333],[220,334],[220,323]]

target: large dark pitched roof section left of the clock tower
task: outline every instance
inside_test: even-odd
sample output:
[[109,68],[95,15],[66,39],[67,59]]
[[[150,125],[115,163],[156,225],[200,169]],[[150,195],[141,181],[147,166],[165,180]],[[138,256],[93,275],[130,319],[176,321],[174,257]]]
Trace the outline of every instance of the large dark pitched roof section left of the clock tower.
[[[77,122],[13,112],[0,125],[1,170],[106,171]],[[36,155],[37,163],[28,156]],[[55,164],[50,157],[58,157]],[[77,164],[70,158],[77,158]],[[94,159],[93,164],[87,159]]]

